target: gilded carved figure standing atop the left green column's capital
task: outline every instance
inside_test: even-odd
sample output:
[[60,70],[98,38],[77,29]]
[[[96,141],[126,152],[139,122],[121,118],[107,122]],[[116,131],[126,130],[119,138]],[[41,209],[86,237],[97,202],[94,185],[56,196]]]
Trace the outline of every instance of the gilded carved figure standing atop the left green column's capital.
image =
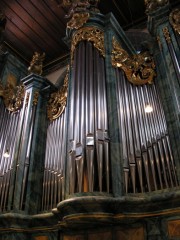
[[32,61],[30,63],[30,66],[28,67],[28,72],[41,75],[44,59],[45,59],[45,53],[40,54],[38,52],[34,52]]

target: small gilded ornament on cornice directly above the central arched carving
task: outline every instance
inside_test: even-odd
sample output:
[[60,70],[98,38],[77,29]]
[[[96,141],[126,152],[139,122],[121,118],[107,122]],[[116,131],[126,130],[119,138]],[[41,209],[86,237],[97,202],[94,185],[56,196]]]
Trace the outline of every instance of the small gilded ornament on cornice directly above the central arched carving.
[[67,23],[69,29],[81,28],[89,19],[89,13],[74,13],[71,20]]

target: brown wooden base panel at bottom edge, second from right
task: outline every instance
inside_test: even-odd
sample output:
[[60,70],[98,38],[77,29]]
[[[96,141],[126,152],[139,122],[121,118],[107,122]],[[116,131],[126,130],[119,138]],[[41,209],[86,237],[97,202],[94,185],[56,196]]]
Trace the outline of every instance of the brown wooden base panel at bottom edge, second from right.
[[144,240],[144,229],[140,228],[131,228],[123,229],[116,232],[116,240]]

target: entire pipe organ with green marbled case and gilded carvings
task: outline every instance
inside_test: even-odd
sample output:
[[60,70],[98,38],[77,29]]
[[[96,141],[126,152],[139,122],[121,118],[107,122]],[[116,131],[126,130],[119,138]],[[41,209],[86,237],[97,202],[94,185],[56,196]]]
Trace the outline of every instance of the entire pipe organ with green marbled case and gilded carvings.
[[[160,239],[149,229],[172,202],[179,214],[177,42],[160,22],[160,48],[137,54],[113,15],[97,11],[98,0],[78,2],[61,86],[38,75],[45,54],[37,52],[19,86],[0,84],[0,211],[28,215],[29,228],[52,220],[48,231],[59,232],[138,222],[142,236],[146,228],[148,239]],[[159,11],[150,2],[149,11]]]

